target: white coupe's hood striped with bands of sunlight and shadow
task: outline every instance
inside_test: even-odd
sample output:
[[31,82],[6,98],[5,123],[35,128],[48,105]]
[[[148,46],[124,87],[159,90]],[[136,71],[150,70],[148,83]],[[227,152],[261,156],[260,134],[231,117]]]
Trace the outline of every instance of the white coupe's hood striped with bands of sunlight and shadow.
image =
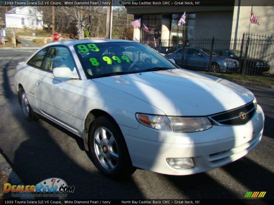
[[[92,80],[141,99],[169,116],[206,116],[242,106],[254,98],[249,90],[235,83],[185,69]],[[137,102],[125,103],[134,106]]]

